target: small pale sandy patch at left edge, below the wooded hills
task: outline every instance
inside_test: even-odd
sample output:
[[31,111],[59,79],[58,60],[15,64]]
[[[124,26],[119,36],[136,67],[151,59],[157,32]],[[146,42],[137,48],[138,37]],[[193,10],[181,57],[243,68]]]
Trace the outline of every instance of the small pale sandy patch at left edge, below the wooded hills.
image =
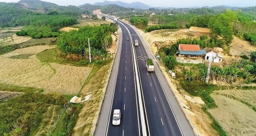
[[13,38],[8,37],[7,39],[0,39],[0,42],[2,42],[2,44],[4,46],[8,46],[8,45],[14,45],[14,44],[20,44],[22,42],[28,41],[32,38],[30,37],[25,37],[25,36],[17,36],[16,34],[12,35]]

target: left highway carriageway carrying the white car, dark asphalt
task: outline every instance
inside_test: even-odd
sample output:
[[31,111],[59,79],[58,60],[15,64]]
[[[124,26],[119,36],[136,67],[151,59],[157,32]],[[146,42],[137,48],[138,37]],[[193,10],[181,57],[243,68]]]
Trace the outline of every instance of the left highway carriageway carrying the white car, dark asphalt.
[[[114,89],[113,103],[108,122],[107,135],[139,135],[139,118],[135,75],[129,34],[124,26],[120,25],[123,32],[121,55],[117,82]],[[126,40],[129,38],[129,40]],[[121,109],[121,124],[112,125],[113,110]]]

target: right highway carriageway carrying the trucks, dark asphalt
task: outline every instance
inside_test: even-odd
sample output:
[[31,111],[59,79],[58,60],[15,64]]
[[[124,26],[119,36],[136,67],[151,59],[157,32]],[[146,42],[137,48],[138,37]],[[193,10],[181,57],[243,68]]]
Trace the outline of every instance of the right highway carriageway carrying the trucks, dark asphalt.
[[133,40],[138,39],[140,45],[135,48],[150,135],[182,135],[156,73],[148,72],[145,67],[145,59],[149,57],[141,39],[135,30],[127,24],[126,27]]

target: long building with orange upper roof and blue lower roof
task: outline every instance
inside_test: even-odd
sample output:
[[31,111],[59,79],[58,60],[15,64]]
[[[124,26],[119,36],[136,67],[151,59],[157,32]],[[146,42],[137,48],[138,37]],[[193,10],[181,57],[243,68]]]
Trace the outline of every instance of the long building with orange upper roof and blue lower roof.
[[200,50],[199,45],[179,44],[179,54],[185,57],[202,57],[206,52],[205,50]]

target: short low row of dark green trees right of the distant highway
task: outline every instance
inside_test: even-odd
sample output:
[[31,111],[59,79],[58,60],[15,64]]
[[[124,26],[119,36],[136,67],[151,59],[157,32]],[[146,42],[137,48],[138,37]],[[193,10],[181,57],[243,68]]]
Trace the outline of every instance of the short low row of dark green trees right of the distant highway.
[[159,24],[147,27],[145,32],[151,32],[153,30],[161,30],[161,29],[178,29],[180,28],[176,22],[170,22],[169,24]]

